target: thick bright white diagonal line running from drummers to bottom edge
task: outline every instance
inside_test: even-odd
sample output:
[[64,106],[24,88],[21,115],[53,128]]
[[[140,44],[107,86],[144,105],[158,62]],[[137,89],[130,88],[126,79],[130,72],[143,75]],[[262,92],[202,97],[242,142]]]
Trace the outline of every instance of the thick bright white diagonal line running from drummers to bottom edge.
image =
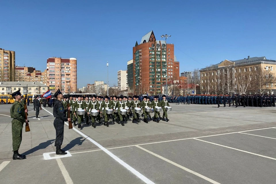
[[[44,109],[44,110],[46,110],[46,109]],[[49,112],[49,111],[47,111],[47,112]],[[53,116],[53,114],[51,112],[49,112],[49,113]],[[66,123],[66,122],[65,122],[65,124],[68,125],[68,123]],[[105,147],[103,147],[102,145],[100,145],[99,143],[97,143],[96,141],[94,141],[93,139],[91,139],[90,137],[88,137],[87,135],[85,135],[84,133],[82,133],[81,131],[79,131],[78,129],[76,129],[76,128],[73,127],[73,130],[76,131],[81,136],[85,137],[91,143],[95,144],[101,150],[103,150],[104,152],[106,152],[106,154],[108,154],[109,156],[111,156],[114,160],[116,160],[117,162],[119,162],[119,164],[121,164],[122,166],[124,166],[125,168],[127,168],[131,173],[133,173],[134,175],[136,175],[142,181],[144,181],[145,183],[148,183],[148,184],[154,184],[154,182],[152,182],[150,179],[148,179],[147,177],[145,177],[144,175],[142,175],[141,173],[139,173],[137,170],[135,170],[133,167],[131,167],[126,162],[122,161],[116,155],[114,155],[113,153],[111,153],[110,151],[108,151]]]

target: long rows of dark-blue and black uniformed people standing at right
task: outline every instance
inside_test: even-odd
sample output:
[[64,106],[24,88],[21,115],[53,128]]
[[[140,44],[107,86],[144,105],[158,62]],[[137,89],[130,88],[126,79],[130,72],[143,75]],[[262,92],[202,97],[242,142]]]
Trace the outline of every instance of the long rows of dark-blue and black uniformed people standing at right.
[[270,94],[259,95],[187,95],[187,96],[168,96],[169,103],[178,104],[226,104],[228,106],[243,107],[275,107],[276,96]]

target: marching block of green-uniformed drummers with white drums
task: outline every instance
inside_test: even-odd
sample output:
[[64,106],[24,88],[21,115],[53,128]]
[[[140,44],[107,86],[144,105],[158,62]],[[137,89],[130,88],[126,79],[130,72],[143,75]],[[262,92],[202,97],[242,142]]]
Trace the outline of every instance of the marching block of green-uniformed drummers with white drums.
[[[109,120],[121,124],[131,120],[133,123],[141,122],[141,118],[145,123],[149,121],[159,122],[160,120],[168,122],[167,110],[171,107],[166,99],[166,95],[151,97],[137,95],[132,96],[76,96],[70,95],[69,99],[64,98],[62,103],[64,109],[70,106],[70,118],[74,126],[81,128],[81,122],[89,123],[91,119],[92,127],[96,128],[96,122],[109,127]],[[160,115],[163,111],[162,118]],[[142,113],[142,114],[141,114]],[[154,116],[151,116],[154,113]],[[141,114],[141,118],[140,118]]]

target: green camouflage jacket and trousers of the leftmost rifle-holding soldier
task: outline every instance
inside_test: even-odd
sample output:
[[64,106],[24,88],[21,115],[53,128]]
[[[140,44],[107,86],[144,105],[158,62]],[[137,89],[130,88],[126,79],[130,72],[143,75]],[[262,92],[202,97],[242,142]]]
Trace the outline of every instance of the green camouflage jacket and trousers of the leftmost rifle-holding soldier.
[[12,149],[19,150],[22,141],[22,129],[25,122],[25,110],[22,104],[14,101],[10,109],[11,118],[11,133],[12,133]]

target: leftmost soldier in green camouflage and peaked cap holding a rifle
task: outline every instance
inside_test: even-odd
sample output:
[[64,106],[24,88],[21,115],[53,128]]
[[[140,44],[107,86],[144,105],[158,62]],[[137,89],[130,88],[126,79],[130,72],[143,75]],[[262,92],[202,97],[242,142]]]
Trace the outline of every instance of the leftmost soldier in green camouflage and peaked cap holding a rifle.
[[18,153],[21,141],[22,141],[22,129],[24,122],[28,123],[28,120],[25,120],[25,112],[28,112],[28,109],[24,110],[22,104],[19,101],[22,99],[20,89],[11,94],[14,98],[14,103],[11,106],[11,134],[12,134],[12,149],[14,155],[12,156],[13,160],[22,160],[25,159],[25,155],[20,155]]

